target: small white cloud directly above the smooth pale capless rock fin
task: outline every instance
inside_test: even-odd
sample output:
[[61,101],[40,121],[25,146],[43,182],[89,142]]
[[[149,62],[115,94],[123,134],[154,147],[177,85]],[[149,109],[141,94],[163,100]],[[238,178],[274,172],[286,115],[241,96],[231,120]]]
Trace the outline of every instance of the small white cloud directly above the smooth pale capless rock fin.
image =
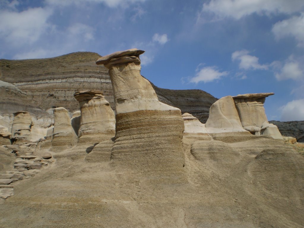
[[203,67],[202,69],[199,69],[199,66],[196,69],[195,77],[190,78],[190,82],[193,82],[193,83],[199,83],[201,81],[203,81],[205,83],[211,82],[216,79],[220,79],[221,77],[226,76],[228,74],[227,71],[223,71],[223,72],[218,71],[215,66]]

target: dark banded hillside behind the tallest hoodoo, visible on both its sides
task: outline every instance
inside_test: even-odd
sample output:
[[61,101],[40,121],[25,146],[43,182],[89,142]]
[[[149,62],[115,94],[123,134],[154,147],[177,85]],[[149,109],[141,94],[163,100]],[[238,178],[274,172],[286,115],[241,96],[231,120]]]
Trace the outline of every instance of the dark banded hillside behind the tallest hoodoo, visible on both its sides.
[[[56,107],[70,112],[79,110],[74,92],[96,89],[104,92],[112,109],[114,97],[108,70],[97,66],[100,57],[92,52],[75,52],[54,58],[0,60],[0,80],[9,82],[24,92],[28,100],[52,113]],[[170,90],[153,85],[161,102],[191,113],[203,123],[209,108],[217,99],[202,90]]]

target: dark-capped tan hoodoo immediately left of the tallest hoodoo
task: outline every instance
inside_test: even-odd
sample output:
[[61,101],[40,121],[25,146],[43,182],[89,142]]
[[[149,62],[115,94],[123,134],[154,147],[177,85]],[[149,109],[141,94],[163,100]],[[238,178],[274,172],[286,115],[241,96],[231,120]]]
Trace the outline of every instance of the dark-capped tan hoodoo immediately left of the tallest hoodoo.
[[81,110],[78,143],[94,145],[115,136],[115,115],[102,91],[78,91],[74,97]]

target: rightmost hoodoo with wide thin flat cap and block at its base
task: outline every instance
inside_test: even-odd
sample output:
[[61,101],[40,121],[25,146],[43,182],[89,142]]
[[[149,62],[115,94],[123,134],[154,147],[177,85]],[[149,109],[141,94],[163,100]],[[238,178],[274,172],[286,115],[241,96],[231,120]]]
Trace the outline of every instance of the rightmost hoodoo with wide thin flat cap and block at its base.
[[255,135],[269,135],[282,139],[277,126],[267,120],[265,114],[265,98],[274,93],[251,93],[234,96],[234,103],[245,130]]

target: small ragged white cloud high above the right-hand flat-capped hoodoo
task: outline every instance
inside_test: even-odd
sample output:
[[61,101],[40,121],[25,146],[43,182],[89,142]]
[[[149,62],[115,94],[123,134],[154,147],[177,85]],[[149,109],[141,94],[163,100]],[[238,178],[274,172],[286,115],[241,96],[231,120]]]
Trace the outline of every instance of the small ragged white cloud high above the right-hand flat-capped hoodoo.
[[241,51],[235,51],[232,53],[231,55],[231,59],[233,61],[235,60],[239,60],[240,64],[239,67],[240,69],[244,69],[244,70],[267,70],[268,66],[267,65],[261,65],[258,63],[259,58],[252,56],[252,55],[248,55],[249,51],[247,50],[241,50]]

